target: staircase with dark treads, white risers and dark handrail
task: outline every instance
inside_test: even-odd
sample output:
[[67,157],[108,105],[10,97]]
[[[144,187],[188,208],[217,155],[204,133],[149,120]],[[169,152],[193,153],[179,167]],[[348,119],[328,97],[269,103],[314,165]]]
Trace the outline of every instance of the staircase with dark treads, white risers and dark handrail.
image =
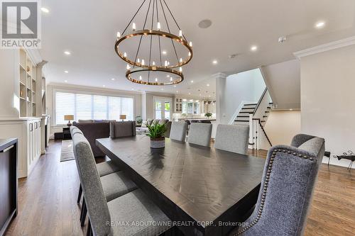
[[267,142],[272,147],[271,141],[264,130],[273,106],[273,103],[269,101],[270,96],[268,90],[265,89],[258,103],[242,104],[234,119],[234,125],[249,125],[249,148],[251,149],[258,150],[261,142]]

